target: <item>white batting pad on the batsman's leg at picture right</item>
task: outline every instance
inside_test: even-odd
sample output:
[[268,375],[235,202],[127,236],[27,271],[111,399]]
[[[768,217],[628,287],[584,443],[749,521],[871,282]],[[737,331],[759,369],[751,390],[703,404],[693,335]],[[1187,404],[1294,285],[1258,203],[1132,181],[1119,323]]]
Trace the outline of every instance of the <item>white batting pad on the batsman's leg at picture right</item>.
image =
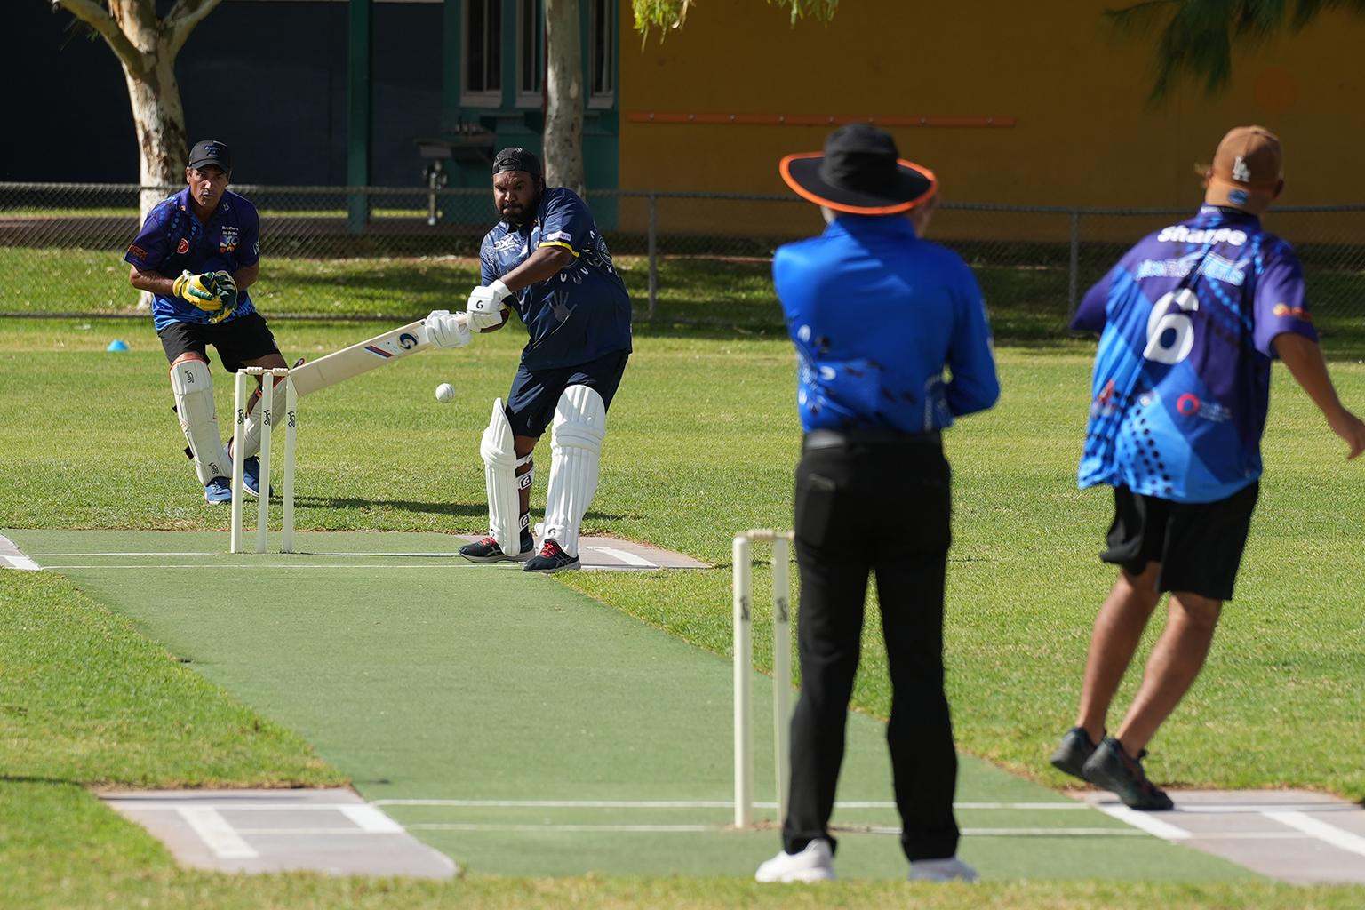
[[579,555],[579,527],[597,493],[598,457],[606,435],[606,404],[588,386],[569,386],[554,408],[545,538]]

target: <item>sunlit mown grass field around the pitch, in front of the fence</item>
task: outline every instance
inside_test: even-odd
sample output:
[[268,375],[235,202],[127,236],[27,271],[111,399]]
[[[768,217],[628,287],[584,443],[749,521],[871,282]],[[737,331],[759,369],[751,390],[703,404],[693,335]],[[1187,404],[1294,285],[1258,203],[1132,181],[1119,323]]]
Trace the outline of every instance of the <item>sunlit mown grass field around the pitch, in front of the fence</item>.
[[[277,322],[287,356],[319,356],[373,323]],[[106,353],[121,337],[128,353]],[[478,532],[478,438],[505,394],[521,337],[425,353],[303,401],[299,527]],[[949,686],[960,746],[1050,784],[1074,711],[1089,623],[1112,573],[1099,565],[1102,491],[1074,488],[1092,345],[999,351],[1001,404],[947,435],[956,468]],[[1365,407],[1365,366],[1332,363]],[[149,321],[0,322],[0,527],[225,529],[206,506],[171,413]],[[220,378],[218,409],[229,412]],[[438,405],[452,382],[460,397]],[[714,570],[576,573],[564,581],[721,654],[729,649],[729,538],[789,527],[799,450],[789,344],[773,336],[637,336],[613,405],[587,529],[648,540]],[[1152,745],[1174,786],[1308,786],[1365,798],[1365,632],[1355,591],[1365,465],[1347,464],[1284,375],[1265,439],[1268,472],[1239,596],[1204,675]],[[542,475],[545,476],[545,475]],[[536,517],[543,482],[532,497]],[[872,516],[894,535],[901,516]],[[562,577],[562,576],[561,576]],[[755,598],[766,595],[766,566]],[[205,592],[229,608],[229,592]],[[875,611],[875,607],[874,607]],[[760,614],[762,615],[762,614]],[[854,699],[889,707],[870,623]],[[0,570],[0,894],[16,906],[1001,906],[1354,907],[1362,888],[841,883],[819,891],[734,880],[449,884],[311,875],[232,879],[176,868],[90,783],[337,783],[308,746],[138,636],[60,577]],[[760,625],[762,639],[766,629]],[[762,647],[759,654],[762,654]],[[1136,673],[1121,693],[1132,694]],[[1122,704],[1118,705],[1122,709]],[[1115,718],[1117,722],[1117,718]],[[1096,870],[1103,879],[1103,870]]]

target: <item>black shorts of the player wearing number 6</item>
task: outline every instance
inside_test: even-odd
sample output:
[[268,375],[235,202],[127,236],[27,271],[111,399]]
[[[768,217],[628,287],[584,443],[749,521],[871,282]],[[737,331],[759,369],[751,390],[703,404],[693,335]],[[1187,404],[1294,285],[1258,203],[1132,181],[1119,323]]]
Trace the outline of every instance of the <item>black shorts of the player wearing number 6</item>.
[[1257,480],[1218,502],[1173,502],[1114,487],[1114,523],[1100,559],[1134,576],[1160,562],[1158,591],[1231,600],[1260,488]]

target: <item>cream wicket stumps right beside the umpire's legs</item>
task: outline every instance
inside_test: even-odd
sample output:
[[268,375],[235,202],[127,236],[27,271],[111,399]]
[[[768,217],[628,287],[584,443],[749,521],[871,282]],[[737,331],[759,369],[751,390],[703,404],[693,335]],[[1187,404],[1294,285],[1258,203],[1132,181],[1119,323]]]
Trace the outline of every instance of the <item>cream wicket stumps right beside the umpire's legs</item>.
[[753,563],[752,544],[773,544],[773,764],[777,819],[786,819],[792,723],[792,583],[788,551],[793,533],[755,528],[734,536],[734,827],[753,824]]

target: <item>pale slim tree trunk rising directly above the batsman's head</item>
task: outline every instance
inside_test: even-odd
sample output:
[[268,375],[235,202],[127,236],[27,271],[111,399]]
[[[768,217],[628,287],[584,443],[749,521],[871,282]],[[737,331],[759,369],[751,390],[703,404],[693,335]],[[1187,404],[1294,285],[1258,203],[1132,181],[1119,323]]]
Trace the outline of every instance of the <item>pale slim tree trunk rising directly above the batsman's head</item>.
[[545,183],[583,186],[583,41],[579,0],[545,0]]

